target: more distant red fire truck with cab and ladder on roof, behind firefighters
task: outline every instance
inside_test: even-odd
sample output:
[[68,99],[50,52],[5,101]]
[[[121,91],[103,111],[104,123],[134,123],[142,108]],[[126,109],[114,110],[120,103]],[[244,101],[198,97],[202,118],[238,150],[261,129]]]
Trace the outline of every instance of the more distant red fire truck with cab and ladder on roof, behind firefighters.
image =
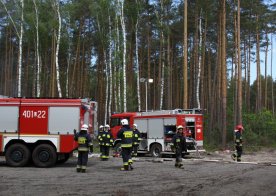
[[[154,157],[170,154],[172,137],[176,126],[182,125],[186,132],[188,152],[203,151],[203,114],[201,109],[174,109],[152,112],[126,112],[111,116],[110,127],[114,138],[121,128],[122,119],[128,119],[130,126],[138,125],[142,140],[140,153]],[[115,140],[115,152],[120,151],[120,140]]]

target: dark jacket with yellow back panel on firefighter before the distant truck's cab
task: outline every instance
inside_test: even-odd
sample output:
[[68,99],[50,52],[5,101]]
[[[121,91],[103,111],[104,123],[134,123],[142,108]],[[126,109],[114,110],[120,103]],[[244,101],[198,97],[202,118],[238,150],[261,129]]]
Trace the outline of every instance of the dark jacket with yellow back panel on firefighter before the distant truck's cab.
[[119,130],[117,137],[121,139],[122,148],[131,148],[133,143],[133,129],[128,125],[122,126]]

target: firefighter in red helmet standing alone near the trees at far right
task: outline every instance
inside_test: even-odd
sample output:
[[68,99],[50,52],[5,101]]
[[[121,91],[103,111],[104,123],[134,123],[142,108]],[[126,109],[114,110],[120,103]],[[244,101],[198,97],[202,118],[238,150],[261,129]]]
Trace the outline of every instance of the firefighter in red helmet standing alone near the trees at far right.
[[237,125],[234,130],[234,141],[235,141],[235,148],[236,152],[231,155],[232,159],[237,162],[241,162],[241,155],[242,155],[242,125]]

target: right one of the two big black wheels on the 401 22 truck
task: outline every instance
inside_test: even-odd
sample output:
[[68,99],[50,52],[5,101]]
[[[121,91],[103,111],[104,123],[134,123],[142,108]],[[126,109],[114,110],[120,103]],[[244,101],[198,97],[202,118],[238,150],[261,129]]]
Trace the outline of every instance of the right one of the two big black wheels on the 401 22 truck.
[[35,147],[32,154],[33,162],[37,167],[51,167],[57,161],[57,153],[53,146],[40,144]]

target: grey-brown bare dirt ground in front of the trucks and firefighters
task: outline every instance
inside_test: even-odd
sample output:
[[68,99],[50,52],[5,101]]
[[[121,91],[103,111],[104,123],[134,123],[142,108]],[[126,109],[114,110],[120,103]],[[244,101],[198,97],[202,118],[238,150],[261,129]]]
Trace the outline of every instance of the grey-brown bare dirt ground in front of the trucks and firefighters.
[[[261,155],[245,155],[244,161]],[[229,153],[212,153],[185,159],[184,169],[175,168],[171,158],[139,157],[127,172],[119,171],[121,158],[92,157],[87,173],[75,172],[76,158],[53,168],[11,168],[1,157],[0,195],[276,195],[276,166],[271,165],[276,153],[266,155],[259,164],[238,164]]]

